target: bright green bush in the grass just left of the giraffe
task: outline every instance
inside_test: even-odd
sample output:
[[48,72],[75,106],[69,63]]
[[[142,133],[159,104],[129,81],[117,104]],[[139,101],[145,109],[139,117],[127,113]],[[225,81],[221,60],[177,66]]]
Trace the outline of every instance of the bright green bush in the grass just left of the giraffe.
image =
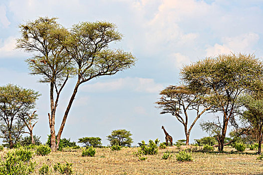
[[147,154],[151,154],[151,155],[157,154],[157,153],[158,153],[157,143],[158,143],[158,138],[155,140],[155,142],[150,139],[147,145],[145,144],[145,141],[142,140],[142,144],[141,144],[141,146],[139,147],[139,151],[138,151],[138,152],[141,152],[141,153],[144,154],[144,155],[147,155]]

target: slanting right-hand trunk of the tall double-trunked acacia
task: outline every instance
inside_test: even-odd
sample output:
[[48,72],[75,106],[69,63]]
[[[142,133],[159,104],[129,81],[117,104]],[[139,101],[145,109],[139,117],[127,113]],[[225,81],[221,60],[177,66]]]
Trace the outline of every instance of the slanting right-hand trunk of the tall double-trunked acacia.
[[67,109],[66,109],[66,111],[65,111],[64,117],[63,117],[62,122],[61,122],[61,125],[60,125],[60,129],[59,129],[59,132],[58,132],[58,135],[57,135],[57,145],[56,145],[56,148],[57,148],[57,149],[59,148],[59,143],[60,143],[61,134],[62,134],[62,131],[63,131],[63,129],[64,129],[64,126],[65,126],[65,123],[66,123],[66,119],[67,119],[67,117],[68,117],[68,114],[69,114],[71,105],[72,105],[72,103],[73,103],[73,101],[74,101],[74,99],[75,99],[75,96],[76,96],[76,94],[77,94],[79,85],[80,85],[80,83],[79,83],[79,80],[78,80],[78,82],[77,82],[77,84],[76,84],[76,86],[75,86],[75,88],[74,88],[74,91],[73,91],[73,93],[72,93],[72,95],[71,95],[69,104],[68,104],[68,106],[67,106]]

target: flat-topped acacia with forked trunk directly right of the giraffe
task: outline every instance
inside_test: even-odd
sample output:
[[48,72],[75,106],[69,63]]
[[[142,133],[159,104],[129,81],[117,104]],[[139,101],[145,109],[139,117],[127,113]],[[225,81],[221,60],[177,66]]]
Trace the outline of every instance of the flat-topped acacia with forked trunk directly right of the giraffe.
[[[201,91],[201,90],[200,90]],[[211,108],[212,105],[206,105],[206,101],[201,93],[193,91],[188,87],[170,85],[160,92],[162,95],[159,98],[158,108],[161,108],[163,113],[171,113],[184,126],[184,133],[186,137],[186,145],[189,145],[189,135],[192,127],[200,118],[200,116]],[[195,110],[196,116],[188,128],[188,111]]]

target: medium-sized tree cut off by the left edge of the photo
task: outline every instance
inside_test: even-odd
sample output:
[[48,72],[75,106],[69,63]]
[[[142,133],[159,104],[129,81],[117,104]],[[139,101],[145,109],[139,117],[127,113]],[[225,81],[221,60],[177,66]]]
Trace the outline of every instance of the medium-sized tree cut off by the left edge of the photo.
[[28,113],[36,107],[39,92],[18,85],[0,86],[0,131],[4,142],[13,148],[24,133]]

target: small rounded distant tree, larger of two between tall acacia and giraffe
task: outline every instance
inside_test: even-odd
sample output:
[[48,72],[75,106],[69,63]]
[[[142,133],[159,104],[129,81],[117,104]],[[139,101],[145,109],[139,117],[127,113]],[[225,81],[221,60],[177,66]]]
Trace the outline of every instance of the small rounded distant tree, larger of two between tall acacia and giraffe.
[[131,132],[128,130],[117,129],[113,130],[107,137],[111,145],[118,144],[120,146],[131,146],[131,143],[133,142],[131,135]]

